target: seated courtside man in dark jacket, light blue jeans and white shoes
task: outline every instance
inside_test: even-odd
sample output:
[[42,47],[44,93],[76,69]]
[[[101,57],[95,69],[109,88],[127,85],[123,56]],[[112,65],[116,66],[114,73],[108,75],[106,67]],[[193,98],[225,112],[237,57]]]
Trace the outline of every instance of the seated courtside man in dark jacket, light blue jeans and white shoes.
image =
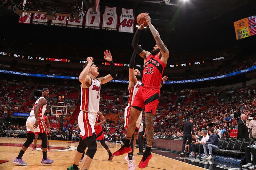
[[[208,159],[208,160],[212,160],[213,156],[212,156],[212,150],[214,149],[220,149],[220,141],[217,137],[216,134],[213,133],[213,129],[209,128],[209,133],[210,133],[210,137],[206,142],[202,142],[201,144],[203,144],[204,147],[204,156],[202,157],[202,159]],[[210,156],[208,157],[207,154],[207,148],[209,148],[209,153]]]

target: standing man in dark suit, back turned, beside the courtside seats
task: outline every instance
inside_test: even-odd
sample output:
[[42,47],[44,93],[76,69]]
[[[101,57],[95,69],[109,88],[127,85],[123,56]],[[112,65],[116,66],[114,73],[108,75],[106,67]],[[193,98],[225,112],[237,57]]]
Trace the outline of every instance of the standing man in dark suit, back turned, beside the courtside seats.
[[[194,138],[196,138],[196,135],[195,135],[195,132],[193,129],[193,123],[194,123],[194,120],[190,119],[188,122],[184,122],[180,128],[181,130],[183,130],[183,143],[182,143],[182,149],[180,152],[180,157],[184,157],[184,154],[186,157],[188,157],[188,153],[190,153],[192,151],[191,133],[193,134]],[[188,140],[188,152],[184,153],[187,140]]]

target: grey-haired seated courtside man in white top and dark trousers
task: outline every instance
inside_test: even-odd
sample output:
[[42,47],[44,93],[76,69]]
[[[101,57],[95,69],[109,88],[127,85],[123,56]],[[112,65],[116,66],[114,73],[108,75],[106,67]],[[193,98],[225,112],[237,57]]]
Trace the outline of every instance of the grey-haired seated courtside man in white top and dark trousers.
[[196,143],[192,144],[192,155],[189,157],[196,157],[196,151],[199,151],[198,155],[196,158],[200,158],[201,153],[203,152],[203,145],[201,144],[202,142],[206,142],[209,139],[209,135],[207,134],[206,130],[202,130],[201,134],[203,135],[203,138],[201,141],[198,140],[196,137]]

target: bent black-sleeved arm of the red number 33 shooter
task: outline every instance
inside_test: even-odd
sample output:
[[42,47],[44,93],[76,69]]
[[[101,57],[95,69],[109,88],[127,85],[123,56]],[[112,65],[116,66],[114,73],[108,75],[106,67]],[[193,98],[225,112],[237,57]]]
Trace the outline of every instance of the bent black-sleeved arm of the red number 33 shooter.
[[143,28],[144,28],[144,22],[139,26],[139,28],[137,29],[137,31],[135,32],[135,34],[133,36],[132,48],[136,51],[137,54],[139,54],[144,59],[144,61],[146,61],[150,52],[145,51],[138,44],[139,43],[140,32]]

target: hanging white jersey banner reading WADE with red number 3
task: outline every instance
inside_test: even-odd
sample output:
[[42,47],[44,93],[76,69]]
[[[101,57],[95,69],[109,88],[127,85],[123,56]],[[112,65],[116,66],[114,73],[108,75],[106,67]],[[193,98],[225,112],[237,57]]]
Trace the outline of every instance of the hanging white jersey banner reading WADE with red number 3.
[[103,30],[117,30],[117,13],[116,7],[110,8],[108,6],[105,7],[105,12],[103,14],[102,19],[102,27]]

